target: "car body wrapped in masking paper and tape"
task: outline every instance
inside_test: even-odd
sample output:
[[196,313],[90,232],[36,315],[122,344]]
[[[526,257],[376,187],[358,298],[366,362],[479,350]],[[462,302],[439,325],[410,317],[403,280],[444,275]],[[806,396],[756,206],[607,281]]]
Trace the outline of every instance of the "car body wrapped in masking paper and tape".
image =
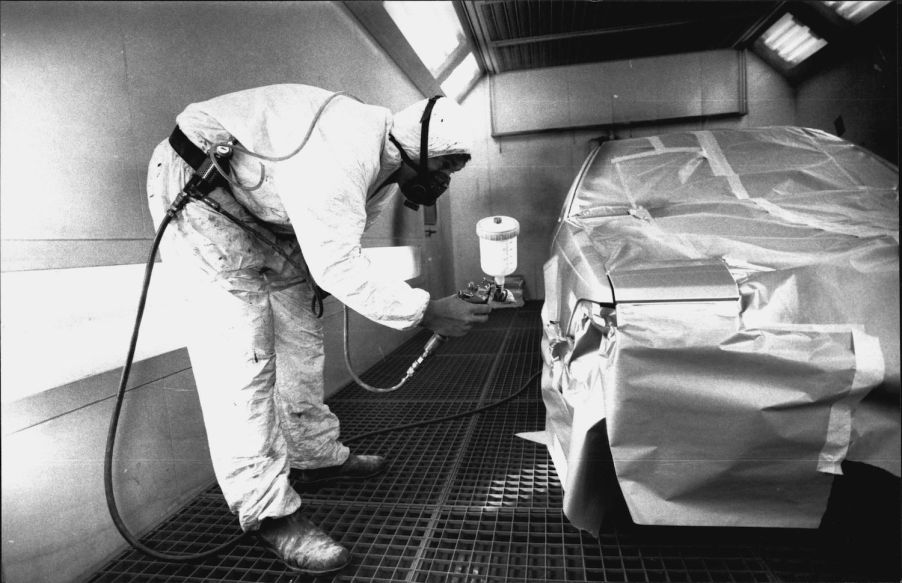
[[570,521],[815,528],[844,460],[900,475],[898,169],[795,127],[601,143],[545,264]]

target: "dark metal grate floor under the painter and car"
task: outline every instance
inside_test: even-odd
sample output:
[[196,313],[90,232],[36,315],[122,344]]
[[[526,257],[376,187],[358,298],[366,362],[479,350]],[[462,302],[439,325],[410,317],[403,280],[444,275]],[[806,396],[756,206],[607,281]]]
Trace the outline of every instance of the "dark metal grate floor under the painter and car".
[[[540,307],[529,302],[520,310],[496,311],[478,330],[449,341],[400,391],[374,395],[353,383],[345,387],[329,400],[345,438],[468,411],[513,394],[541,369]],[[417,335],[363,379],[396,382],[427,338]],[[850,540],[836,544],[836,537],[828,540],[822,531],[628,523],[608,527],[596,539],[563,515],[563,490],[545,447],[516,436],[543,429],[544,415],[535,379],[525,394],[490,411],[355,442],[357,453],[388,456],[388,471],[365,483],[298,487],[314,522],[351,551],[352,564],[335,576],[298,577],[244,539],[227,554],[190,565],[126,551],[90,581],[899,580],[898,530],[877,550]],[[163,552],[199,552],[236,531],[213,486],[143,540]]]

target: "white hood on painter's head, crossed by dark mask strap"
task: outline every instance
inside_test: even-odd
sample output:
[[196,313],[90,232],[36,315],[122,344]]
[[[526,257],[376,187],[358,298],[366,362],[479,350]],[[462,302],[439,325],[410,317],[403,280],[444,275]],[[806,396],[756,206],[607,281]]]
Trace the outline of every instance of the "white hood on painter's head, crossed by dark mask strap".
[[[428,101],[418,101],[394,115],[391,134],[414,160],[420,158],[420,119]],[[452,99],[439,99],[429,120],[428,157],[470,154],[473,149],[470,131],[463,109]]]

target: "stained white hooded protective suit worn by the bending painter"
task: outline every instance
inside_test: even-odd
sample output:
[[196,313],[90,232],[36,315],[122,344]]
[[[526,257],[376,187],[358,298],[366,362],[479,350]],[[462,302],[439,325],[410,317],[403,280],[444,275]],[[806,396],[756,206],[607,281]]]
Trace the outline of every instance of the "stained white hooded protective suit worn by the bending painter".
[[[331,92],[273,85],[189,105],[176,119],[203,151],[236,139],[270,157],[293,152]],[[311,312],[307,278],[374,322],[403,330],[420,323],[429,294],[376,272],[361,253],[364,230],[397,193],[385,180],[400,166],[389,132],[416,160],[426,101],[393,116],[347,96],[329,102],[295,156],[268,162],[236,151],[242,185],[210,197],[306,265],[284,258],[206,205],[191,202],[162,242],[180,272],[182,316],[213,468],[245,530],[300,506],[290,467],[343,463],[339,423],[323,404],[323,331]],[[459,107],[440,99],[429,126],[430,156],[469,153]],[[262,168],[261,168],[262,164]],[[192,169],[168,141],[149,166],[147,191],[159,226]]]

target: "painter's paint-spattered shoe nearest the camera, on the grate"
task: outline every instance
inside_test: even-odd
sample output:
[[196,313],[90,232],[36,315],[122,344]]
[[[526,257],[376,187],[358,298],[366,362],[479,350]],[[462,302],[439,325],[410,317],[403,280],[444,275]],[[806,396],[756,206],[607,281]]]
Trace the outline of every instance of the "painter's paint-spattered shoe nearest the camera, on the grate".
[[257,538],[292,571],[322,575],[345,568],[351,560],[346,548],[332,540],[300,511],[281,518],[265,518]]

